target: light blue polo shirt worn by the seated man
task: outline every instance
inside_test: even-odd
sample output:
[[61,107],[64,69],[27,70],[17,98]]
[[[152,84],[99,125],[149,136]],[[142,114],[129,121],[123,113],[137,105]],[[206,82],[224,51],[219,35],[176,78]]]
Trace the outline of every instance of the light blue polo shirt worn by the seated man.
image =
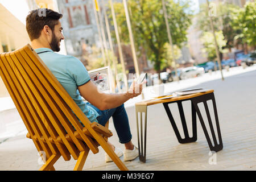
[[90,122],[98,122],[96,118],[99,114],[93,107],[86,105],[77,89],[77,86],[90,81],[90,76],[82,62],[76,57],[60,55],[49,48],[38,48],[35,49],[35,52],[38,53],[44,64],[47,65]]

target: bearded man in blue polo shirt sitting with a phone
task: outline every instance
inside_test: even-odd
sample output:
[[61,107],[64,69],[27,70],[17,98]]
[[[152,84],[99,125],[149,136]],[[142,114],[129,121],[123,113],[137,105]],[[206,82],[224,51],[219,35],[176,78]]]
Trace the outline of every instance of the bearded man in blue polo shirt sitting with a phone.
[[[90,81],[89,74],[80,60],[73,56],[55,53],[60,51],[60,42],[64,40],[63,28],[59,20],[61,17],[62,14],[49,9],[37,9],[30,12],[26,18],[26,29],[32,48],[90,122],[98,122],[105,126],[109,118],[113,117],[119,142],[125,144],[125,150],[122,152],[108,142],[118,157],[124,155],[125,161],[137,158],[138,148],[131,142],[129,121],[123,103],[130,98],[139,96],[142,92],[142,84],[134,82],[127,93],[106,94],[100,92],[97,86]],[[82,101],[81,96],[89,103],[86,104]],[[105,157],[106,162],[112,161],[107,154]]]

